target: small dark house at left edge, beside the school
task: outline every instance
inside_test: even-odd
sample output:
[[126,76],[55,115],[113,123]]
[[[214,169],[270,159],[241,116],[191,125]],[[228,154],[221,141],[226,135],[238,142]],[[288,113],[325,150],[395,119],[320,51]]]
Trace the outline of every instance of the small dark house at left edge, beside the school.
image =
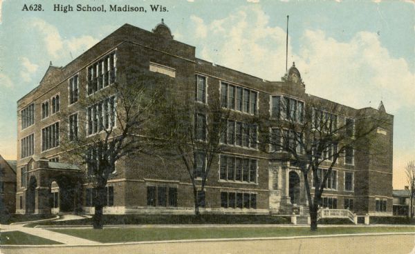
[[6,161],[0,155],[0,213],[15,213],[16,161]]

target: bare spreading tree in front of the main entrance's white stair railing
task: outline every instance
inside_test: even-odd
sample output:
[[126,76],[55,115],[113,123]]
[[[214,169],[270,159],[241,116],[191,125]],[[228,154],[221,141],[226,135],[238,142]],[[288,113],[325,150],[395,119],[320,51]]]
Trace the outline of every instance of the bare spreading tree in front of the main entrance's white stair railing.
[[311,230],[315,231],[317,211],[333,166],[340,158],[353,162],[353,154],[358,150],[369,156],[369,146],[374,151],[371,136],[385,117],[380,111],[371,110],[367,117],[356,116],[359,122],[355,124],[351,118],[340,117],[349,115],[347,107],[315,97],[310,97],[306,106],[288,97],[277,97],[273,105],[277,105],[272,113],[275,120],[268,116],[258,120],[262,126],[262,148],[301,171]]

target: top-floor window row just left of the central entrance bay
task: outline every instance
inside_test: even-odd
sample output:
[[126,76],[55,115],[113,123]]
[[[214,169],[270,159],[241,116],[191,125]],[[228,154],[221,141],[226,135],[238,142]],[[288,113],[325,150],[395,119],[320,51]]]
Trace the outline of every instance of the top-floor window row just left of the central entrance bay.
[[244,113],[256,115],[258,92],[221,82],[221,105]]

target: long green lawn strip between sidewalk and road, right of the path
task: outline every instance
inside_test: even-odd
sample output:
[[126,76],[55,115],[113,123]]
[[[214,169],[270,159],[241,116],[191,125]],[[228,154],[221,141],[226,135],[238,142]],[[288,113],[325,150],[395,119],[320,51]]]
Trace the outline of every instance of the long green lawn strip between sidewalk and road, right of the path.
[[386,233],[414,232],[408,227],[342,227],[319,228],[311,232],[309,228],[104,228],[50,229],[51,231],[86,238],[96,242],[140,242],[160,240],[185,240],[207,238],[243,238],[243,237],[282,237],[299,235],[332,235],[348,233]]

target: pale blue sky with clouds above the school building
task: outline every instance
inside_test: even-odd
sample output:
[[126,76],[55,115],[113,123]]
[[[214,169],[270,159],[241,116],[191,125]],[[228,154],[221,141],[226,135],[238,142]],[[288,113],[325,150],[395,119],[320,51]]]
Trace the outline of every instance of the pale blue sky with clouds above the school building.
[[[27,1],[0,0],[0,154],[15,159],[16,101],[48,68],[65,66],[100,39],[130,23],[151,30],[162,18],[174,39],[196,56],[268,80],[295,61],[306,92],[354,108],[377,108],[394,119],[394,188],[415,159],[415,11],[411,1]],[[104,4],[107,12],[53,12],[53,4]],[[109,12],[109,4],[147,12]],[[168,12],[151,12],[149,5]]]

